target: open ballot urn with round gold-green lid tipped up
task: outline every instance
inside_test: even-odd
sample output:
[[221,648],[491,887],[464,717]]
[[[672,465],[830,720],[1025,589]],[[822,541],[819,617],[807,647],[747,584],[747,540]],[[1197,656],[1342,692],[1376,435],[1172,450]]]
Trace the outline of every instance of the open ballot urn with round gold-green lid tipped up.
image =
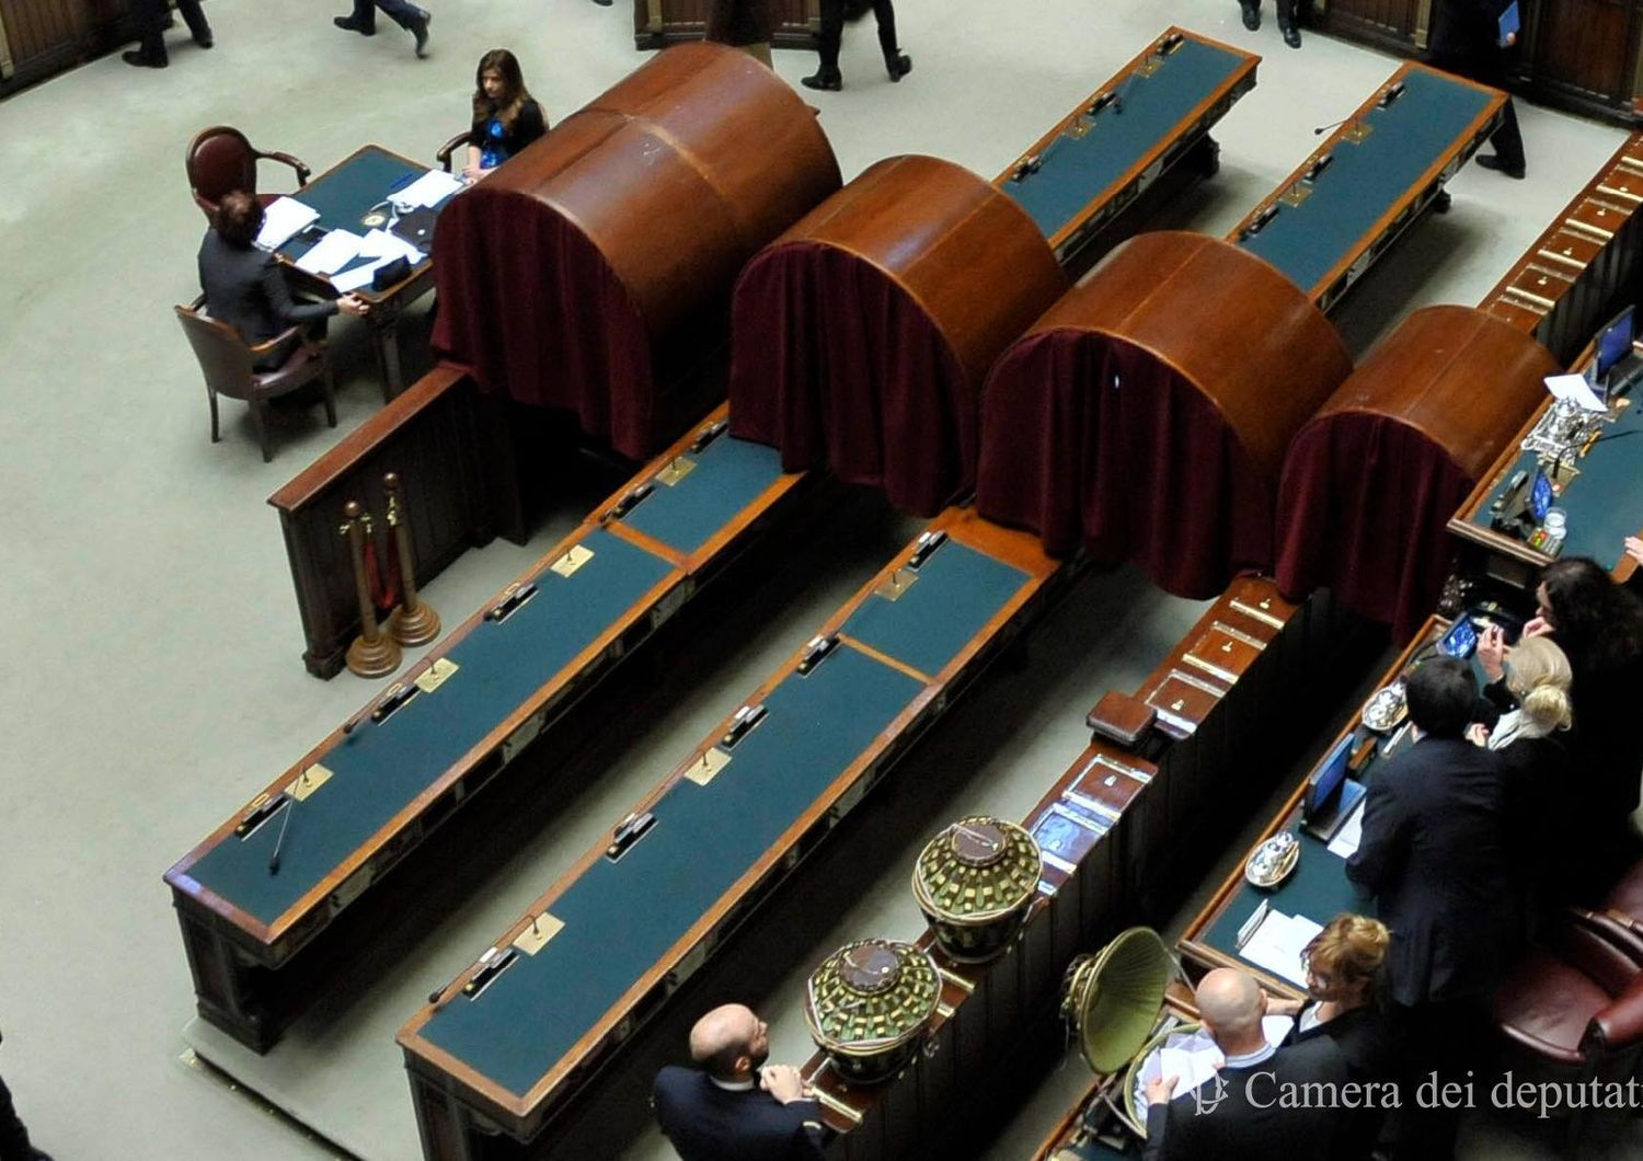
[[[1196,1030],[1162,1020],[1175,974],[1175,959],[1152,928],[1130,928],[1066,969],[1061,1015],[1084,1062],[1112,1081],[1102,1085],[1101,1100],[1139,1136],[1147,1136],[1147,1110],[1135,1102],[1142,1066],[1168,1036]],[[1084,1123],[1091,1123],[1088,1110]]]

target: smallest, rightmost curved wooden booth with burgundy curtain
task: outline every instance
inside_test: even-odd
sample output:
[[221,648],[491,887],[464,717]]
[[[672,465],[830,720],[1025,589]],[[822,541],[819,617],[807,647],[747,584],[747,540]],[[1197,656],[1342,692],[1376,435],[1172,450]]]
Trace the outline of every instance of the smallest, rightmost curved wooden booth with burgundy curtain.
[[1405,319],[1295,438],[1278,494],[1285,594],[1328,585],[1408,637],[1443,590],[1449,517],[1559,369],[1531,337],[1472,307]]

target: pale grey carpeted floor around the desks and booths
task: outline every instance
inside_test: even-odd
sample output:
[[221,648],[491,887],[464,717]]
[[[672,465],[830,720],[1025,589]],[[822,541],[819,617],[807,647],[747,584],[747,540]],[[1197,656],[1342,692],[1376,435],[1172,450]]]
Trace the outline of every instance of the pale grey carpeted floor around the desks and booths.
[[[871,504],[823,522],[757,601],[706,634],[654,721],[593,772],[549,833],[365,995],[317,1005],[263,1059],[191,1025],[161,872],[378,688],[304,673],[265,499],[380,396],[363,333],[345,324],[334,330],[347,379],[338,430],[317,409],[288,414],[265,466],[230,404],[223,442],[207,442],[199,371],[169,310],[196,292],[202,230],[184,145],[225,122],[315,167],[366,141],[427,158],[465,123],[486,48],[519,53],[555,120],[641,59],[624,7],[429,3],[429,61],[412,59],[409,38],[386,21],[361,39],[330,28],[332,7],[212,0],[210,53],[179,30],[164,72],[108,57],[0,103],[0,156],[13,166],[0,190],[0,1072],[59,1161],[327,1156],[291,1120],[191,1067],[191,1046],[360,1156],[414,1158],[393,1033],[429,985],[470,962],[914,527]],[[1316,145],[1313,125],[1347,115],[1395,67],[1321,36],[1291,53],[1270,23],[1245,33],[1231,0],[978,11],[902,0],[917,67],[894,89],[871,30],[848,34],[846,90],[812,97],[846,177],[895,153],[991,176],[1175,21],[1267,56],[1259,89],[1217,133],[1219,179],[1168,217],[1219,233]],[[812,67],[808,54],[777,53],[789,82]],[[1408,305],[1475,302],[1620,141],[1617,130],[1536,108],[1523,108],[1523,125],[1530,181],[1461,174],[1454,212],[1423,225],[1342,310],[1354,350]],[[416,340],[409,358],[426,366]],[[455,624],[585,504],[567,496],[526,548],[470,553],[429,598]],[[798,995],[810,966],[853,938],[917,934],[905,880],[925,837],[964,811],[1019,816],[1081,749],[1093,700],[1134,686],[1196,609],[1124,571],[1083,581],[1037,634],[1030,663],[961,704],[895,787],[800,872],[774,920],[733,946],[711,989],[757,1003],[775,1054],[803,1059]],[[830,892],[835,877],[858,887]],[[577,1154],[667,1154],[641,1128],[642,1084],[634,1069],[610,1079],[603,1105],[626,1128]],[[1078,1084],[1078,1067],[1063,1067],[989,1156],[1024,1156]]]

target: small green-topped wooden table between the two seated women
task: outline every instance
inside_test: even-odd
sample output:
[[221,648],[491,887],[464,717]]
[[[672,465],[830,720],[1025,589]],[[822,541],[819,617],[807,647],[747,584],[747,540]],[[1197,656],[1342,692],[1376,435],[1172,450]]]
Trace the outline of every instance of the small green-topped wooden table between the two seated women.
[[[315,176],[307,186],[292,194],[292,197],[319,210],[315,225],[320,228],[342,228],[363,233],[371,227],[365,225],[361,218],[373,210],[386,212],[388,207],[384,202],[391,192],[403,189],[427,171],[429,167],[419,161],[389,153],[378,145],[366,145]],[[444,209],[445,204],[449,204],[449,199],[435,207],[435,212]],[[297,268],[297,259],[311,248],[307,241],[297,236],[276,250],[274,258],[286,266],[294,284],[306,284],[325,297],[335,297],[337,289],[332,286],[330,278],[309,274]],[[350,263],[350,266],[358,264],[363,264],[363,259]],[[365,320],[370,324],[371,338],[376,343],[376,366],[383,376],[384,402],[391,401],[404,388],[404,378],[399,371],[399,319],[406,307],[432,289],[434,256],[429,251],[421,263],[412,266],[393,286],[384,286],[380,291],[363,286],[355,291],[355,294],[371,304],[371,312],[365,315]]]

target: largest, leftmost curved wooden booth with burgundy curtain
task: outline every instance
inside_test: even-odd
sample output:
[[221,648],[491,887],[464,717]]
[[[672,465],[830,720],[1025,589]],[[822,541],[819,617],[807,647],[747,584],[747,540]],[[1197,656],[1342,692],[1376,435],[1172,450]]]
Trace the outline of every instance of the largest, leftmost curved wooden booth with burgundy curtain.
[[670,48],[444,210],[435,346],[647,455],[652,361],[723,337],[741,266],[838,186],[784,80],[723,44]]

